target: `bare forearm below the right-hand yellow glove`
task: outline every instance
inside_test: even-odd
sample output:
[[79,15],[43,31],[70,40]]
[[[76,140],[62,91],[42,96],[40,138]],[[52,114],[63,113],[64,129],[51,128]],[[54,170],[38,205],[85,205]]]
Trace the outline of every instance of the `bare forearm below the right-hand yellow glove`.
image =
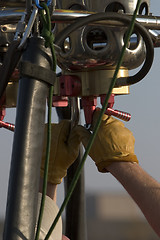
[[108,171],[123,185],[160,237],[160,183],[132,162],[114,162]]

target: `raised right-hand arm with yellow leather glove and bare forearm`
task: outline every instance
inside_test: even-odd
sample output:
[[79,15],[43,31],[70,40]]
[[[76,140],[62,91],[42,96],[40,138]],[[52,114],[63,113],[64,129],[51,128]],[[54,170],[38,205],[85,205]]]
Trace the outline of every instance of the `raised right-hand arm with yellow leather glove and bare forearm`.
[[[99,110],[94,114],[92,129],[98,115]],[[92,133],[82,126],[77,131],[86,147]],[[110,172],[123,185],[160,236],[160,184],[139,166],[132,132],[121,121],[104,115],[89,155],[98,171]]]

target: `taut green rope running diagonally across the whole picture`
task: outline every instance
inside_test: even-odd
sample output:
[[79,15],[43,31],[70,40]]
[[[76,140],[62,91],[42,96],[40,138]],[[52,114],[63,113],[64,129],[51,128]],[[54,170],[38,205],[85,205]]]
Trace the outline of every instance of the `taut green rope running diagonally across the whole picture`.
[[123,48],[122,48],[122,51],[121,51],[121,54],[120,54],[120,57],[119,57],[119,61],[118,61],[118,63],[117,63],[117,66],[116,66],[116,69],[115,69],[115,72],[114,72],[114,76],[113,76],[112,82],[111,82],[110,87],[109,87],[109,91],[108,91],[108,93],[107,93],[107,95],[106,95],[106,98],[105,98],[103,107],[102,107],[102,109],[101,109],[99,118],[98,118],[97,123],[96,123],[96,126],[95,126],[95,128],[94,128],[93,134],[92,134],[92,136],[91,136],[91,138],[90,138],[90,140],[89,140],[89,143],[88,143],[87,148],[86,148],[86,151],[85,151],[85,153],[84,153],[84,155],[83,155],[82,161],[81,161],[81,163],[79,164],[79,166],[78,166],[78,168],[77,168],[77,170],[76,170],[76,173],[75,173],[75,175],[74,175],[74,177],[73,177],[73,180],[72,180],[71,185],[70,185],[70,187],[69,187],[69,189],[68,189],[67,195],[66,195],[66,197],[65,197],[65,199],[64,199],[64,201],[63,201],[63,203],[62,203],[62,205],[61,205],[61,207],[60,207],[60,209],[59,209],[59,212],[58,212],[58,214],[57,214],[57,216],[56,216],[53,224],[51,225],[51,227],[50,227],[50,229],[49,229],[49,231],[48,231],[48,233],[47,233],[47,235],[46,235],[46,237],[45,237],[44,240],[48,240],[48,239],[49,239],[49,237],[50,237],[52,231],[54,230],[54,228],[55,228],[55,226],[56,226],[56,224],[57,224],[57,222],[58,222],[58,220],[59,220],[59,218],[60,218],[60,216],[61,216],[64,208],[65,208],[65,206],[67,205],[67,203],[68,203],[68,201],[69,201],[69,199],[70,199],[70,197],[71,197],[71,195],[72,195],[72,192],[74,191],[74,188],[75,188],[75,186],[76,186],[76,184],[77,184],[77,181],[78,181],[78,179],[79,179],[79,177],[80,177],[81,170],[82,170],[82,168],[83,168],[83,166],[84,166],[84,163],[85,163],[85,161],[86,161],[86,158],[87,158],[87,156],[88,156],[88,153],[89,153],[89,151],[90,151],[90,149],[91,149],[91,147],[92,147],[92,144],[93,144],[93,142],[94,142],[94,139],[95,139],[95,137],[96,137],[96,134],[97,134],[98,129],[99,129],[100,124],[101,124],[102,116],[103,116],[103,114],[104,114],[105,111],[106,111],[107,104],[108,104],[108,100],[109,100],[110,95],[111,95],[111,93],[112,93],[112,89],[113,89],[113,87],[114,87],[114,85],[115,85],[115,82],[116,82],[116,80],[117,80],[117,75],[118,75],[120,66],[121,66],[122,61],[123,61],[123,56],[124,56],[124,53],[125,53],[125,49],[126,49],[126,47],[127,47],[127,45],[128,45],[128,41],[129,41],[129,39],[130,39],[130,36],[131,36],[131,34],[132,34],[132,32],[133,32],[134,22],[135,22],[135,19],[136,19],[136,16],[137,16],[137,12],[138,12],[139,7],[140,7],[140,3],[141,3],[141,0],[138,0],[138,1],[137,1],[137,5],[136,5],[136,9],[135,9],[134,14],[133,14],[133,17],[132,17],[132,21],[131,21],[131,23],[130,23],[129,29],[128,29],[127,34],[126,34],[126,37],[125,37],[125,42],[124,42],[124,46],[123,46]]

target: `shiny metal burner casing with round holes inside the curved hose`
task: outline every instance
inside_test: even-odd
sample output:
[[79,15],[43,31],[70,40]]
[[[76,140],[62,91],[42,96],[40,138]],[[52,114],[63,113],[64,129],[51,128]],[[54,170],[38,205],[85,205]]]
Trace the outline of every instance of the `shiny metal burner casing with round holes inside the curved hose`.
[[[93,0],[61,0],[61,6],[69,10],[87,10],[90,12],[121,12],[132,14],[137,1],[103,0],[101,4]],[[149,1],[142,1],[140,13],[149,14]],[[66,27],[66,24],[57,24],[57,32]],[[57,55],[58,64],[63,70],[71,72],[90,71],[91,69],[104,70],[114,68],[118,61],[119,53],[124,44],[127,28],[112,26],[84,26],[71,33],[65,39],[62,53]],[[134,44],[132,43],[134,38]],[[136,40],[135,40],[136,39]],[[126,49],[122,67],[135,69],[145,59],[145,46],[138,33],[131,36]]]

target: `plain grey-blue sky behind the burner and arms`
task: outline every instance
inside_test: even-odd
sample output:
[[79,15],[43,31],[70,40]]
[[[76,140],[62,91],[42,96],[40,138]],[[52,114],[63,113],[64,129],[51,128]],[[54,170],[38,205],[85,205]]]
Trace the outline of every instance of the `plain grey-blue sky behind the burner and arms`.
[[[159,0],[151,1],[150,12],[160,16]],[[155,49],[153,66],[140,83],[130,87],[130,95],[118,96],[115,109],[131,113],[125,123],[135,136],[135,153],[140,165],[160,181],[160,49]],[[8,109],[5,121],[15,121],[15,109]],[[53,119],[55,114],[53,113]],[[0,128],[0,218],[5,215],[13,133]],[[121,185],[110,175],[97,171],[88,158],[85,164],[86,192],[123,192]],[[63,199],[63,183],[59,186],[58,202]]]

